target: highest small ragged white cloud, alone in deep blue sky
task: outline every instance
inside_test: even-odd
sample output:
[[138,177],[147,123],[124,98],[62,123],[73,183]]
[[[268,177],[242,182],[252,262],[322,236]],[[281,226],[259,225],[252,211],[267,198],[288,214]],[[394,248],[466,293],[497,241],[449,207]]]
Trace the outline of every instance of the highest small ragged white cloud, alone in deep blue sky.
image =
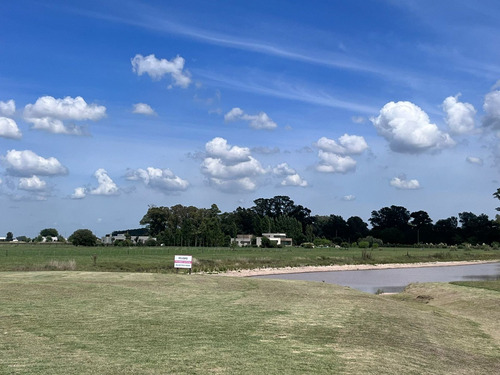
[[132,70],[141,76],[148,74],[153,80],[160,80],[166,74],[170,74],[175,86],[187,88],[191,83],[190,74],[184,71],[185,60],[176,56],[172,60],[157,59],[155,55],[149,56],[135,55],[131,60]]

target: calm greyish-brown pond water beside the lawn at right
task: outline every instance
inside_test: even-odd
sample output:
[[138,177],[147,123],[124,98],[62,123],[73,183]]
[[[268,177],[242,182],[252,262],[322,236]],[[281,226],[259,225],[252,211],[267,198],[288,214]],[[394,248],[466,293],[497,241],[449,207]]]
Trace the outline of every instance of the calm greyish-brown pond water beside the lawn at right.
[[267,279],[319,281],[368,293],[401,292],[410,283],[483,281],[500,279],[500,263],[383,270],[328,271],[255,276]]

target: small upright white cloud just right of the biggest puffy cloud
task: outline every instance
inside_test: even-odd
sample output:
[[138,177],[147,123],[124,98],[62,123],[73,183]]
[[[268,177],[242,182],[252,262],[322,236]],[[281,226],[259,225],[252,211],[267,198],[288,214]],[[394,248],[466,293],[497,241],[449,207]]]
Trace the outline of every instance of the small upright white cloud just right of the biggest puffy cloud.
[[443,102],[446,123],[453,134],[465,134],[474,130],[476,109],[472,104],[458,101],[460,94],[449,96]]

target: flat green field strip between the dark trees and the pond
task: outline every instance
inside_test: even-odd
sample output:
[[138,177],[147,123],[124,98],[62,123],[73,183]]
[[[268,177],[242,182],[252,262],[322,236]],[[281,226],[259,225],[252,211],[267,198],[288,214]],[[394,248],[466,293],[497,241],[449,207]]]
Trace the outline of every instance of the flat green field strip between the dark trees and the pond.
[[[193,255],[194,272],[500,259],[500,250],[483,249],[379,248],[369,250],[363,257],[363,250],[358,248],[292,247],[233,250],[210,247],[89,248],[52,244],[1,244],[0,271],[77,270],[168,273],[174,271],[175,254]],[[94,255],[96,255],[95,264]]]

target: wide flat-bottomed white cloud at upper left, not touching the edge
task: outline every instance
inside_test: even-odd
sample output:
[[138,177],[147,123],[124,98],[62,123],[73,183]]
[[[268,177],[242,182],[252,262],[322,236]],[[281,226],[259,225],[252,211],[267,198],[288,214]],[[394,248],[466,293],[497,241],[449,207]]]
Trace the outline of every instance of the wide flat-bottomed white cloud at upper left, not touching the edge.
[[67,96],[56,99],[52,96],[42,96],[35,104],[24,107],[24,119],[33,124],[33,129],[45,130],[55,134],[85,134],[84,127],[64,121],[97,121],[106,115],[106,107],[97,104],[87,104],[81,97]]

